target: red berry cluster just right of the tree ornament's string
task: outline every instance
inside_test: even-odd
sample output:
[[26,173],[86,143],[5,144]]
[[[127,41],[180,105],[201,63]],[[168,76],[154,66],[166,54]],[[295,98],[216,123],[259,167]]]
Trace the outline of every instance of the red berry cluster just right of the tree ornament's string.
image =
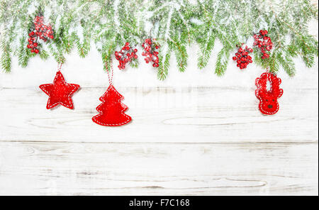
[[131,48],[130,43],[125,43],[125,46],[120,52],[116,51],[116,60],[119,62],[118,68],[124,70],[126,63],[130,62],[133,58],[137,59],[138,55],[136,55],[136,52],[138,52],[138,50]]

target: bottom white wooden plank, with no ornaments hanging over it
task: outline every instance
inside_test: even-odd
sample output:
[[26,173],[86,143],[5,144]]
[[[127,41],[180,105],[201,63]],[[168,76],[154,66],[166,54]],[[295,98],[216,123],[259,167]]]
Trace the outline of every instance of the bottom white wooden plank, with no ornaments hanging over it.
[[318,195],[318,144],[2,142],[0,194]]

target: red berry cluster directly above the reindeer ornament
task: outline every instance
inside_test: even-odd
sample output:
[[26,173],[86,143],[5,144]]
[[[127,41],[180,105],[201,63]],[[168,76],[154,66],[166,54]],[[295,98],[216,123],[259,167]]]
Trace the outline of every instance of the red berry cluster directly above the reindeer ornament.
[[272,39],[267,36],[268,31],[260,30],[259,34],[254,34],[254,46],[262,51],[262,59],[269,57],[266,51],[272,50]]

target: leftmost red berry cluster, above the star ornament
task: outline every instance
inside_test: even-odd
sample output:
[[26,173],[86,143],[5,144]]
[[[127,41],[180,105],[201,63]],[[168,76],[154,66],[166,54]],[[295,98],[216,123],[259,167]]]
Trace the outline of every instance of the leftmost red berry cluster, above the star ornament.
[[31,49],[31,52],[38,54],[38,39],[43,40],[44,42],[49,38],[53,39],[53,31],[52,26],[45,26],[43,24],[43,16],[36,16],[33,25],[34,26],[29,33],[27,48]]

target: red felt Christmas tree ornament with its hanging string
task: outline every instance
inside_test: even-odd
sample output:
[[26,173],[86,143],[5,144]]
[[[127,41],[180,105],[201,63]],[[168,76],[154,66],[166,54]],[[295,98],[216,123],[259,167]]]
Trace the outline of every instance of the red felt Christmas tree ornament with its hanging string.
[[109,86],[103,96],[100,97],[102,104],[96,107],[100,114],[94,116],[92,121],[101,126],[123,126],[129,123],[132,118],[124,112],[128,106],[121,103],[124,97],[113,87],[113,68],[111,67],[111,76],[108,73]]

